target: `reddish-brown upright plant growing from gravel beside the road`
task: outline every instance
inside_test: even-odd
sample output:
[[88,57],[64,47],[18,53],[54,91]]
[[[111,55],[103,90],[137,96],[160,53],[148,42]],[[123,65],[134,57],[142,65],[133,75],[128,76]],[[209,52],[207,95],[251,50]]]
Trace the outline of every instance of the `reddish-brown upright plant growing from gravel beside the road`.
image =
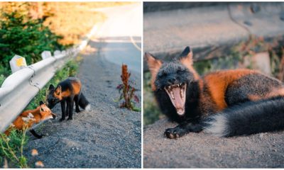
[[121,66],[121,81],[122,84],[116,87],[119,89],[120,97],[118,101],[124,99],[121,103],[120,108],[128,108],[131,111],[141,111],[140,108],[135,107],[135,103],[139,102],[138,96],[136,96],[136,89],[131,86],[129,83],[134,84],[133,81],[129,81],[131,74],[127,70],[127,65],[122,64]]

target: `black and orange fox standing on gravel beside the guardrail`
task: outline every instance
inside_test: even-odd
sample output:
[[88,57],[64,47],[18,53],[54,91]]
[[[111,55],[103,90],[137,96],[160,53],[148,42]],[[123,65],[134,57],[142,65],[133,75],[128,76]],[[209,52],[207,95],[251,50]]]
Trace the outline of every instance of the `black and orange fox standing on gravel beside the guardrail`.
[[75,77],[69,77],[64,81],[61,81],[55,88],[53,84],[50,84],[47,101],[48,107],[51,109],[57,103],[61,104],[62,118],[60,121],[65,120],[65,116],[68,116],[67,120],[72,120],[73,106],[75,102],[75,111],[80,112],[80,108],[89,111],[91,106],[89,101],[84,97],[81,91],[81,81]]

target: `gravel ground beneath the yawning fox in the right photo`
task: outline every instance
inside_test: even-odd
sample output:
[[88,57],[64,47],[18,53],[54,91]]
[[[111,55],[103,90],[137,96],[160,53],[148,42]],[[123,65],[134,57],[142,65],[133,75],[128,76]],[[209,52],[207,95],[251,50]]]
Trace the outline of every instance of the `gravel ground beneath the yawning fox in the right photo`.
[[283,168],[284,132],[219,138],[190,133],[177,140],[163,136],[175,127],[166,118],[143,132],[145,168]]

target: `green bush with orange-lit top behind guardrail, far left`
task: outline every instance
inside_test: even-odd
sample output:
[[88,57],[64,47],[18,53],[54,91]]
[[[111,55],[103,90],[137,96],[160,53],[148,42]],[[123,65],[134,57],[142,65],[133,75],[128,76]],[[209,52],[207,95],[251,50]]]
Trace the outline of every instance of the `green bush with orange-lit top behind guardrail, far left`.
[[40,53],[44,50],[53,52],[65,49],[58,43],[61,37],[51,32],[47,26],[43,26],[45,18],[33,18],[29,15],[33,4],[4,4],[1,3],[0,20],[1,79],[11,74],[9,61],[14,55],[21,55],[26,58],[27,64],[33,64],[41,60]]

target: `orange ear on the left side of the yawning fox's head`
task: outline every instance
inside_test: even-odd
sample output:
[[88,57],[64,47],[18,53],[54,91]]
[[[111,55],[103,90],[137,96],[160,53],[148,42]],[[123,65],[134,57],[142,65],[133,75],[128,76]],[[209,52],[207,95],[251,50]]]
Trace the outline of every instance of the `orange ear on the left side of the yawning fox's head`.
[[151,72],[152,78],[151,78],[151,86],[152,86],[152,90],[155,91],[155,77],[157,76],[157,73],[160,69],[160,67],[162,66],[163,62],[156,59],[155,57],[153,57],[153,55],[151,55],[148,52],[145,52],[145,57],[146,57],[146,61],[148,63],[148,67],[149,70]]

